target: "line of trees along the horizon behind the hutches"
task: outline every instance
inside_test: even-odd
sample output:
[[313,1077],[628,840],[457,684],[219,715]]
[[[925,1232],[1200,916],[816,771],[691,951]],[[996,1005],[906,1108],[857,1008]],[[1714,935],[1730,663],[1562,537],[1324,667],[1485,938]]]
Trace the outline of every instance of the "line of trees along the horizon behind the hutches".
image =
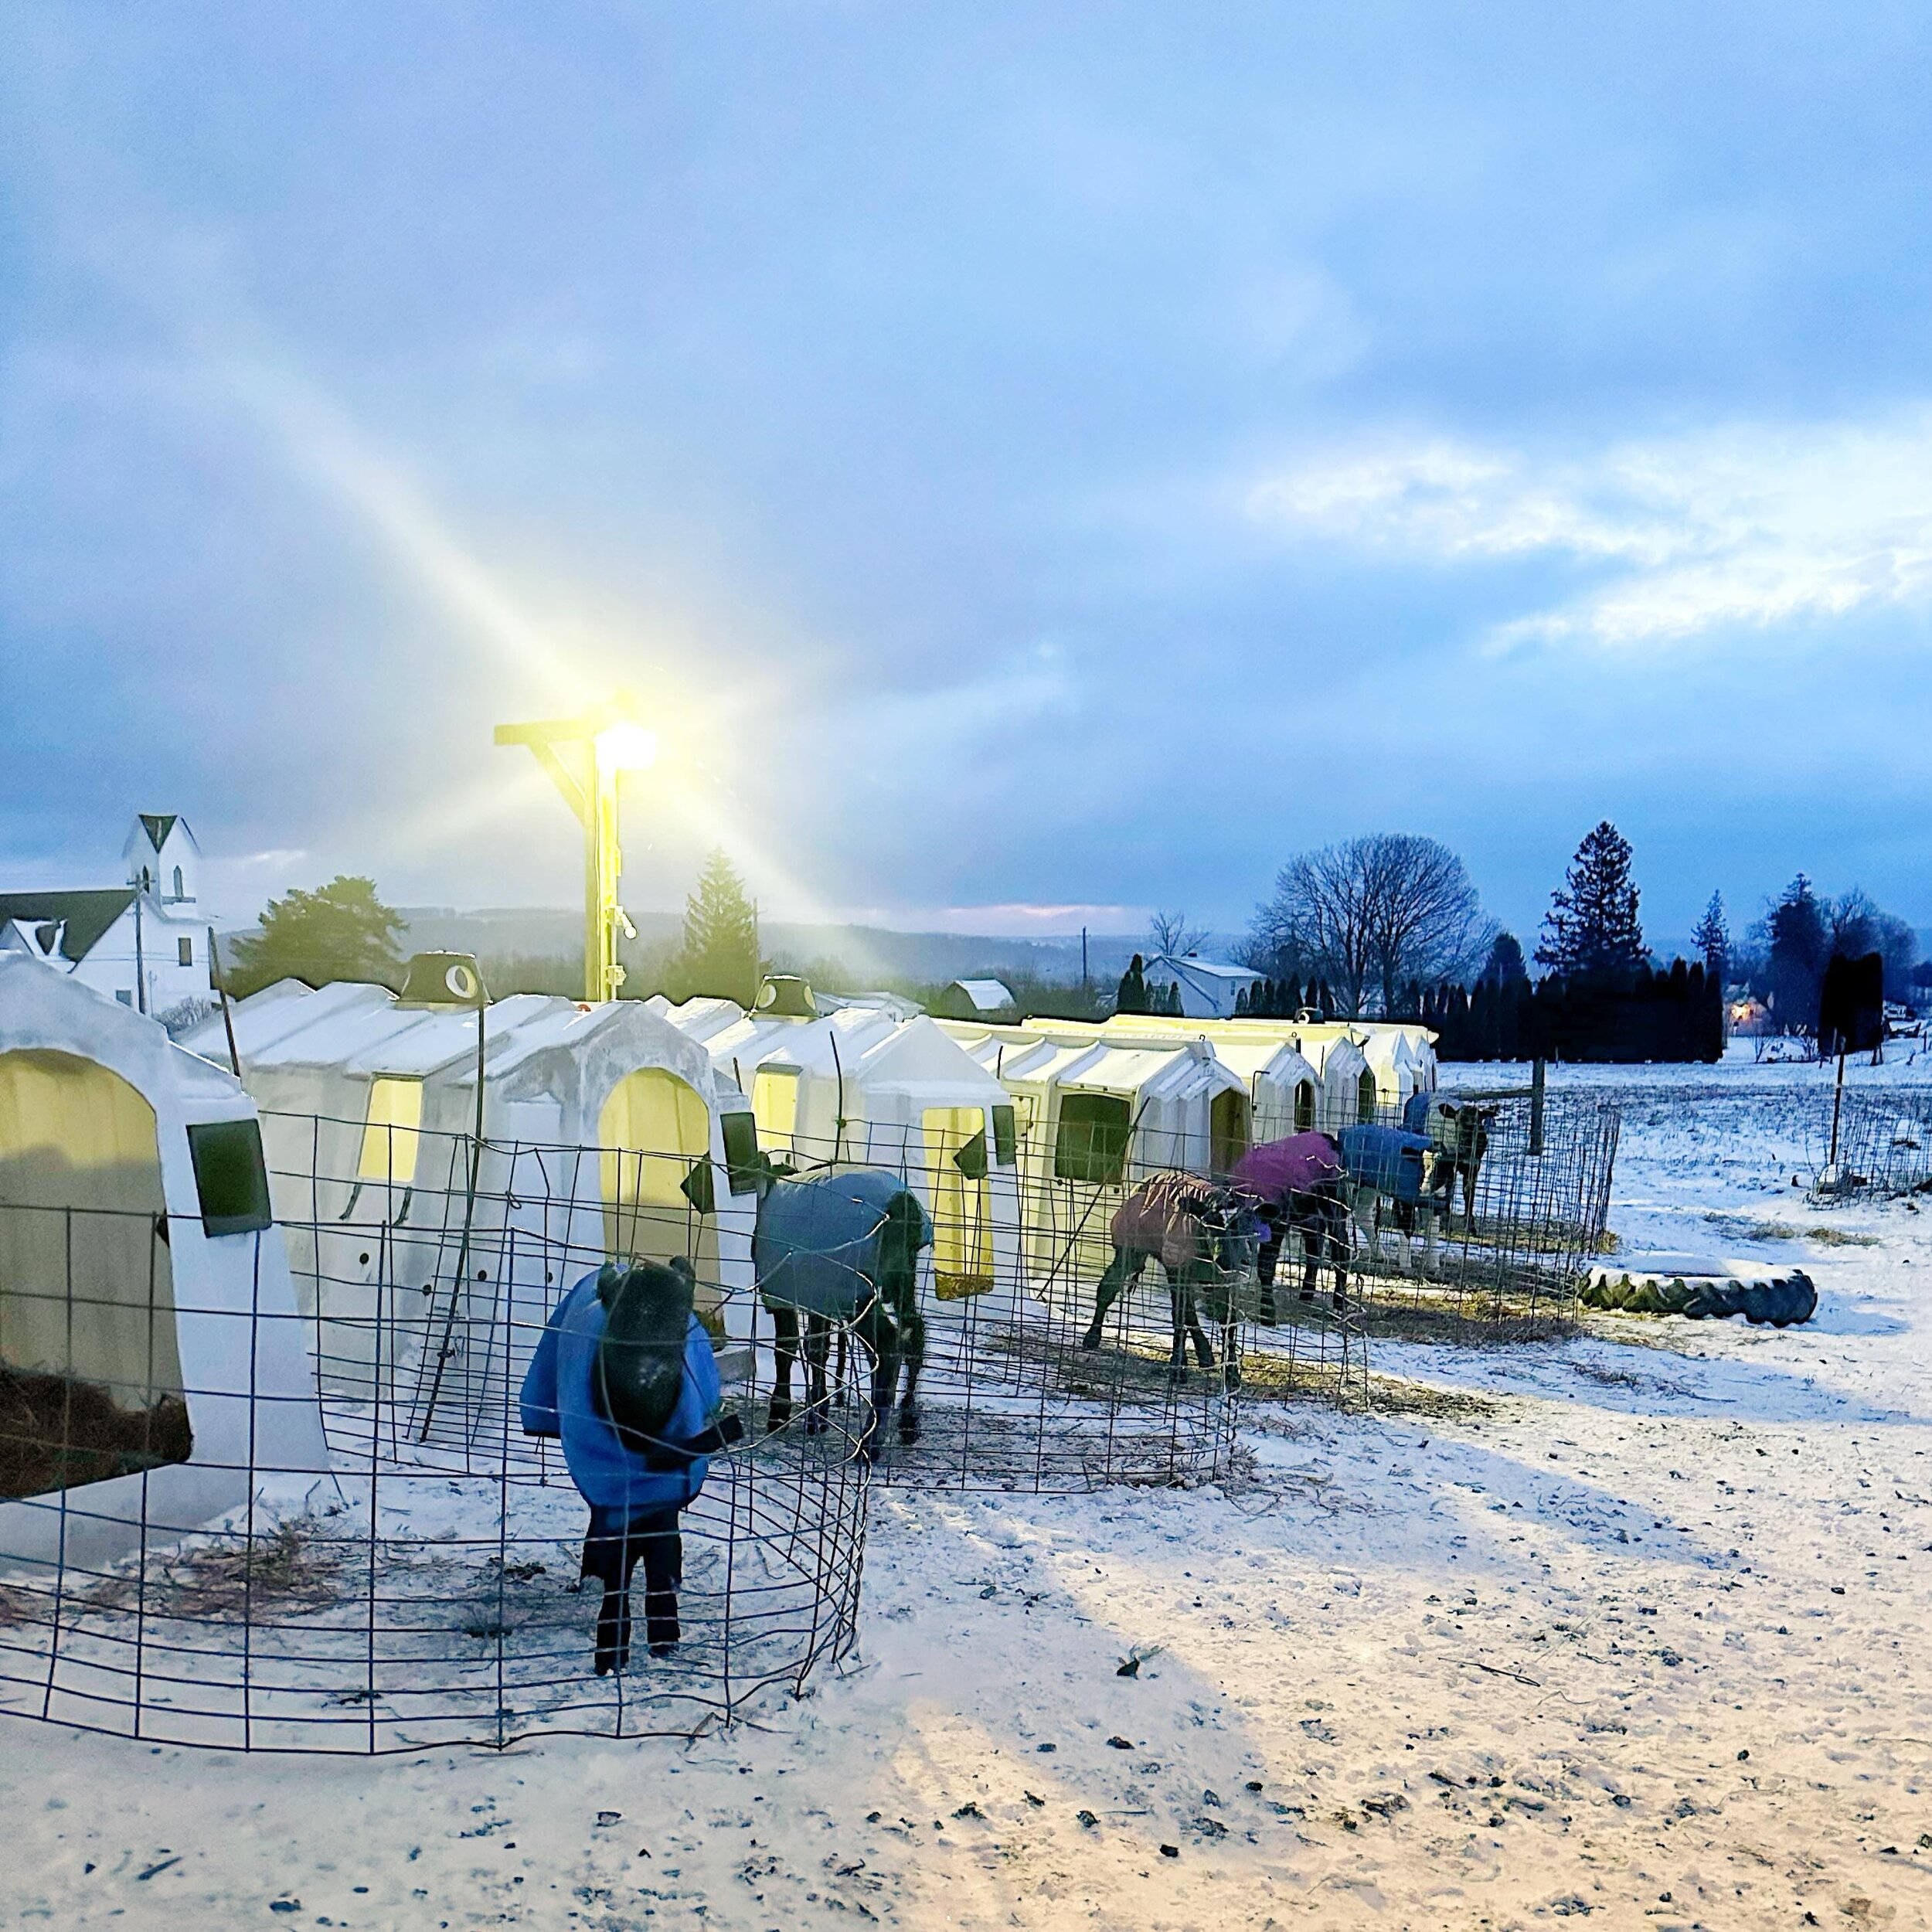
[[[242,997],[280,978],[311,985],[371,980],[398,985],[404,922],[367,877],[270,898],[255,933],[232,941],[228,991]],[[1184,954],[1206,935],[1180,912],[1159,912],[1151,954]],[[1294,1018],[1414,1018],[1439,1036],[1445,1059],[1551,1053],[1563,1059],[1704,1059],[1721,1051],[1725,989],[1760,999],[1770,1024],[1808,1036],[1833,954],[1884,960],[1886,997],[1922,1001],[1932,964],[1913,927],[1853,889],[1816,891],[1799,873],[1733,939],[1712,893],[1692,935],[1696,958],[1658,966],[1644,941],[1629,840],[1607,819],[1592,827],[1551,893],[1532,980],[1522,945],[1482,912],[1463,860],[1435,838],[1372,833],[1298,854],[1256,908],[1242,962],[1262,978],[1238,1010]],[[626,995],[688,999],[721,993],[750,1005],[769,966],[757,904],[724,852],[711,852],[686,900],[678,941],[626,956]],[[487,958],[493,993],[574,995],[580,962]],[[1175,1012],[1171,987],[1148,985],[1134,956],[1121,983],[1049,987],[1030,981],[1022,1010],[1099,1016]],[[1010,974],[1007,976],[1010,983]],[[912,989],[914,997],[931,993]],[[1020,989],[1014,987],[1018,993]],[[929,1003],[929,999],[927,999]],[[1078,1010],[1076,1010],[1078,1009]]]

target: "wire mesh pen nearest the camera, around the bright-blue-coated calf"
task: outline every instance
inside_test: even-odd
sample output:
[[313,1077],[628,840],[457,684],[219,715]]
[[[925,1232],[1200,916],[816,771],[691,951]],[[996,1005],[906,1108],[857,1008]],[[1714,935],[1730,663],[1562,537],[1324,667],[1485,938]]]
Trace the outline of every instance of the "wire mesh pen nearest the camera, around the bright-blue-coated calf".
[[[388,1283],[327,1271],[336,1238],[373,1258],[355,1221],[286,1231],[309,1256],[299,1312],[272,1293],[276,1229],[224,1236],[253,1246],[257,1293],[197,1300],[166,1254],[199,1233],[0,1206],[0,1252],[41,1262],[6,1271],[4,1356],[44,1364],[0,1370],[0,1708],[243,1750],[692,1735],[852,1644],[856,1376],[833,1370],[823,1428],[711,1455],[663,1548],[674,1646],[599,1675],[585,1505],[504,1399],[549,1308],[458,1294],[452,1323],[442,1269],[398,1310],[371,1293]],[[531,1246],[556,1281],[587,1260]],[[265,1370],[288,1343],[319,1381]]]

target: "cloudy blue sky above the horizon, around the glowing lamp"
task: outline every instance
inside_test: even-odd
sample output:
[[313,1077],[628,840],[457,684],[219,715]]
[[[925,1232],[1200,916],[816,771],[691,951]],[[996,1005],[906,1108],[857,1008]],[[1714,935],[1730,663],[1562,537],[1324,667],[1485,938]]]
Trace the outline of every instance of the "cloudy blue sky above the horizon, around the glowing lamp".
[[0,0],[0,885],[1932,923],[1920,6]]

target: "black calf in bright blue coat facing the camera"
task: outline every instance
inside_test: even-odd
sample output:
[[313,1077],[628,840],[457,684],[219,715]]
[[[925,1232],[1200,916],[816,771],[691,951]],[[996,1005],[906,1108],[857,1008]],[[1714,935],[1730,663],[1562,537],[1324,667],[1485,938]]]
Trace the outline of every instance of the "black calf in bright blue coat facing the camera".
[[562,1441],[570,1480],[591,1505],[583,1575],[605,1586],[599,1677],[630,1662],[630,1580],[639,1561],[651,1656],[676,1648],[678,1517],[703,1488],[711,1457],[744,1434],[736,1416],[719,1418],[717,1360],[694,1293],[682,1258],[605,1264],[556,1304],[524,1376],[526,1434]]

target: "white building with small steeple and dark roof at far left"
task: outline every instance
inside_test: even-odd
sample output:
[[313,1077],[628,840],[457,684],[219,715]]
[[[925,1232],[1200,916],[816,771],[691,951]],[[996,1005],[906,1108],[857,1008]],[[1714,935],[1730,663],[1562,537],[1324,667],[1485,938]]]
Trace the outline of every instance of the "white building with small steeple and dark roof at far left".
[[122,858],[126,885],[0,893],[0,952],[25,952],[158,1020],[199,1018],[214,981],[187,819],[137,813]]

